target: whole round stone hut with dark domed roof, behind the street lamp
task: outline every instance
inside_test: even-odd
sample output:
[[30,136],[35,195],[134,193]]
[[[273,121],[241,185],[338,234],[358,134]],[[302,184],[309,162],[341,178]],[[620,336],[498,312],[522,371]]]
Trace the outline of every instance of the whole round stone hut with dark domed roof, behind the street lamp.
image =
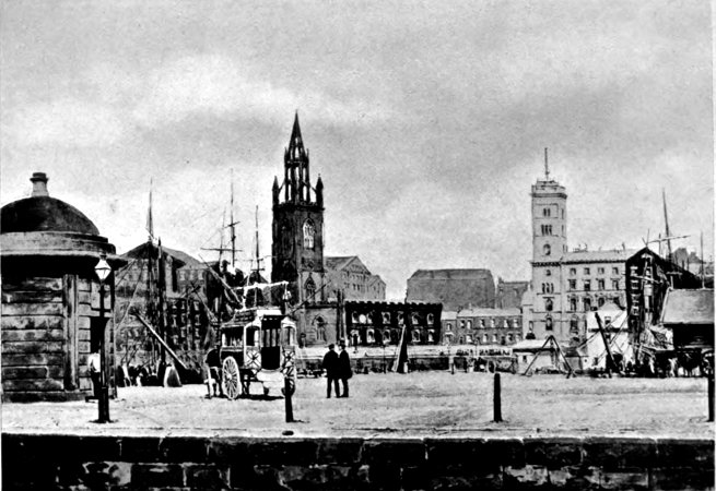
[[31,181],[32,196],[7,204],[0,217],[2,400],[82,399],[92,393],[87,361],[103,332],[114,385],[115,278],[105,280],[103,320],[94,268],[101,258],[113,270],[126,260],[82,212],[49,196],[45,173]]

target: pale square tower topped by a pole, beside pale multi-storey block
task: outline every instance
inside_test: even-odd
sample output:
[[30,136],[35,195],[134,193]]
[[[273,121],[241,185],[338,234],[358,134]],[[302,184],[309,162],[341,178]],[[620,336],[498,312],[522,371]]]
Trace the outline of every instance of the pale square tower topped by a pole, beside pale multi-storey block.
[[563,309],[561,259],[567,252],[567,194],[550,178],[544,148],[544,179],[532,184],[532,321],[529,331],[538,338],[562,337]]

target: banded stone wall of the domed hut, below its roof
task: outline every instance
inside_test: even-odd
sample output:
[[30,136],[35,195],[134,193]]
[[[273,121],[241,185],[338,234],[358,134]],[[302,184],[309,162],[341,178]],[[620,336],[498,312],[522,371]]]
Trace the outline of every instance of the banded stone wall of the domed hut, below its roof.
[[[91,319],[98,316],[98,284],[74,274],[2,279],[2,400],[84,398],[92,390],[87,360]],[[111,315],[108,287],[108,367],[114,360]]]

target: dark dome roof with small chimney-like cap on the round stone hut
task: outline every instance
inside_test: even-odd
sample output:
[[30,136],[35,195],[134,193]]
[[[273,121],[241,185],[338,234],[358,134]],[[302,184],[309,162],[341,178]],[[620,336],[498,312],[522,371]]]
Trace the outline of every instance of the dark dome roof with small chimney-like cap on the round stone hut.
[[2,207],[0,233],[74,232],[98,236],[97,227],[78,208],[47,194],[47,176],[35,172],[33,194]]

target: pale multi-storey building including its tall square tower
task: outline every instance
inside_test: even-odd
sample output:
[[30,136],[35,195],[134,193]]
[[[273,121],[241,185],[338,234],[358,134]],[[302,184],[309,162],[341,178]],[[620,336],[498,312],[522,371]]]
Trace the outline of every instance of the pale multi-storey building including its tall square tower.
[[633,254],[619,250],[567,250],[567,194],[550,178],[532,185],[532,295],[527,333],[559,342],[577,342],[586,334],[586,313],[607,301],[625,307],[624,263]]

